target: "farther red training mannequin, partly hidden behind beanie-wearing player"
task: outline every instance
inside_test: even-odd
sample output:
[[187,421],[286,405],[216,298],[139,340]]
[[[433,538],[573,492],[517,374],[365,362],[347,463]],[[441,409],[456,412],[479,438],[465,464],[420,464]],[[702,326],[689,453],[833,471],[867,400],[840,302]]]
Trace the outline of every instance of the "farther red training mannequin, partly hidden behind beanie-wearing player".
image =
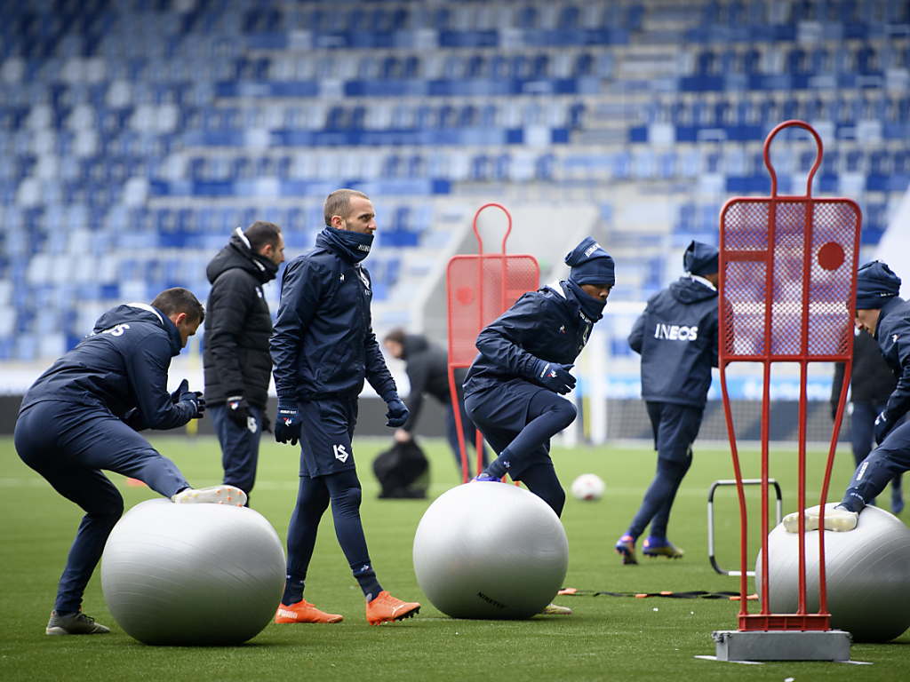
[[[485,208],[495,207],[501,209],[501,211],[506,215],[506,218],[509,220],[509,226],[506,229],[506,233],[502,236],[502,248],[500,253],[488,253],[483,252],[483,239],[480,237],[480,232],[477,229],[477,219],[480,217],[480,213]],[[461,410],[459,406],[458,399],[458,386],[455,384],[455,370],[457,368],[467,368],[470,367],[471,361],[473,361],[474,356],[477,354],[477,347],[471,344],[470,357],[465,354],[464,349],[459,345],[456,346],[456,338],[453,334],[455,329],[455,318],[459,316],[459,307],[458,306],[468,306],[472,304],[475,300],[477,301],[477,316],[474,320],[474,325],[471,326],[470,331],[472,338],[477,338],[477,335],[480,334],[480,330],[484,326],[487,326],[497,317],[501,316],[509,307],[518,300],[519,296],[522,294],[533,291],[537,288],[540,283],[540,266],[537,263],[537,259],[534,256],[528,255],[507,255],[506,254],[506,241],[509,239],[511,234],[511,214],[506,210],[505,206],[501,204],[484,204],[477,209],[477,213],[474,214],[474,236],[477,237],[478,244],[478,254],[476,256],[452,256],[449,261],[449,266],[446,270],[446,301],[447,301],[447,313],[448,313],[448,322],[449,322],[449,390],[452,401],[452,408],[455,413],[455,427],[458,431],[458,443],[460,448],[461,455],[461,472],[462,480],[468,482],[468,450],[464,442],[464,434],[461,429]],[[499,262],[499,267],[497,267],[497,261]],[[476,278],[473,280],[476,282],[476,292],[470,288],[470,284],[465,285],[461,282],[455,281],[458,277],[458,270],[463,270],[464,266],[470,266],[473,262],[477,264]],[[490,272],[490,266],[493,268],[493,272]],[[513,266],[510,268],[510,266]],[[517,266],[517,267],[514,267]],[[523,266],[523,267],[522,267]],[[522,283],[523,279],[527,279],[529,268],[532,268],[533,272],[533,282],[534,288],[528,288]],[[498,273],[496,273],[498,270]],[[518,271],[516,271],[518,270]],[[524,270],[525,272],[521,272]],[[488,281],[491,275],[498,275],[499,283],[501,286],[501,296],[497,300],[487,302],[487,297],[485,296],[485,287],[492,286],[492,283]],[[522,275],[524,277],[522,277]],[[512,288],[510,288],[510,284]],[[468,288],[470,289],[467,292],[467,296],[470,296],[470,302],[465,303],[460,300],[460,294],[462,290]],[[483,461],[483,446],[482,438],[480,431],[477,432],[477,471],[480,473],[482,468]]]

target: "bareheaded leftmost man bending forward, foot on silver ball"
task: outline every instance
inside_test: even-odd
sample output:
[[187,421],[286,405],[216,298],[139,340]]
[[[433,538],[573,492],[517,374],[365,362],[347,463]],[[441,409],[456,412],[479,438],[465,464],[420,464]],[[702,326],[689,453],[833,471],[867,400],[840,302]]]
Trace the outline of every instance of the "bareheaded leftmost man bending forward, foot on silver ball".
[[109,632],[81,613],[82,596],[123,514],[123,497],[102,469],[143,481],[175,502],[242,505],[238,488],[190,488],[177,466],[136,431],[184,426],[205,401],[187,380],[167,393],[171,357],[187,345],[205,312],[187,289],[151,306],[116,306],[94,331],[28,389],[15,424],[15,449],[54,489],[86,510],[60,578],[48,635]]

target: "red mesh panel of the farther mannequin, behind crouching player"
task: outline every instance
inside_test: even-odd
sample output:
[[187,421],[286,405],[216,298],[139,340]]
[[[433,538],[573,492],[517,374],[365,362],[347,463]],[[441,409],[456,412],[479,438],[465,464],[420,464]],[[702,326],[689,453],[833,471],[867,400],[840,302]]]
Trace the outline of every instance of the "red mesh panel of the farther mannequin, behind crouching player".
[[470,366],[477,355],[480,330],[522,294],[535,291],[539,280],[533,256],[453,256],[446,276],[450,366]]

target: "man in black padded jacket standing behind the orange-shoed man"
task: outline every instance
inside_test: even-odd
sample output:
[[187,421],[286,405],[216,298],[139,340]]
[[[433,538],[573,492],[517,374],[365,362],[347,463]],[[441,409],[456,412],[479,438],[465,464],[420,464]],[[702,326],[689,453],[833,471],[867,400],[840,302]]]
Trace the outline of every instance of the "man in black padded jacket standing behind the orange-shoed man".
[[259,436],[268,430],[272,318],[262,285],[284,262],[281,228],[257,221],[238,227],[206,268],[206,399],[221,444],[224,482],[249,495],[256,482]]

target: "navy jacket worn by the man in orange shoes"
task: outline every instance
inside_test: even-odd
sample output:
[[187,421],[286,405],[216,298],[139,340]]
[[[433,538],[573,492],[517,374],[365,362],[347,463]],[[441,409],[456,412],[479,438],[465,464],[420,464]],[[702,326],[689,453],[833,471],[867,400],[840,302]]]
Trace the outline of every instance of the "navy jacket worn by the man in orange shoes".
[[281,278],[271,338],[279,398],[356,397],[366,377],[379,396],[395,391],[373,333],[369,272],[322,235]]

